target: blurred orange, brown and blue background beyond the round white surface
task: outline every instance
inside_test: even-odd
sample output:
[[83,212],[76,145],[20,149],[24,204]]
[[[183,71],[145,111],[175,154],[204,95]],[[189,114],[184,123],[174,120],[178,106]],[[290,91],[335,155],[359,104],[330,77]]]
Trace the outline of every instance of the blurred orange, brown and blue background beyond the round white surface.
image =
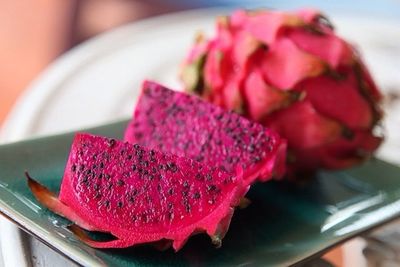
[[[57,57],[88,38],[144,18],[212,6],[318,7],[327,13],[400,17],[400,1],[24,0],[0,1],[0,130],[17,98]],[[357,247],[358,245],[355,245]],[[358,246],[359,247],[359,246]],[[343,266],[343,248],[324,256]]]

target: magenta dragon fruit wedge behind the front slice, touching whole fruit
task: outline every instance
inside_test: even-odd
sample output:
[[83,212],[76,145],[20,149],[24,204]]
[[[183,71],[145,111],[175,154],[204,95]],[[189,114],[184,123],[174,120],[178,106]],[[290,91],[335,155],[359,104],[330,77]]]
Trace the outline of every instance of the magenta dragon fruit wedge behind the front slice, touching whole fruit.
[[274,131],[150,81],[143,83],[125,140],[228,172],[240,164],[247,184],[285,171],[286,142]]

